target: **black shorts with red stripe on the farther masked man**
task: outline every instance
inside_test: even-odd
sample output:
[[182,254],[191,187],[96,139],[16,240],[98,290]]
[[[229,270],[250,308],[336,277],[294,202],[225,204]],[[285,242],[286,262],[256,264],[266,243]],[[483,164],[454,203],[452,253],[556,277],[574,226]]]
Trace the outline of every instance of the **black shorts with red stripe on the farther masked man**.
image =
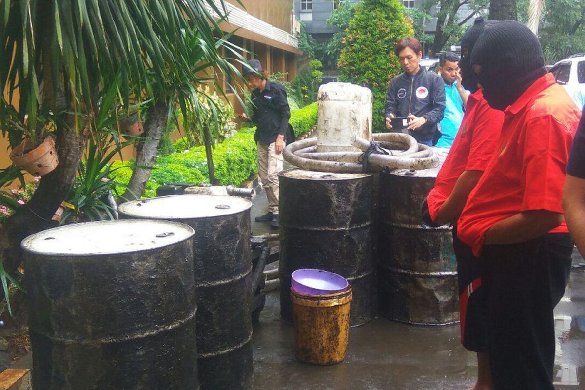
[[471,247],[457,238],[457,226],[453,226],[453,247],[459,281],[461,344],[470,351],[487,352],[487,301],[485,288],[481,286],[483,265],[480,258],[473,256]]

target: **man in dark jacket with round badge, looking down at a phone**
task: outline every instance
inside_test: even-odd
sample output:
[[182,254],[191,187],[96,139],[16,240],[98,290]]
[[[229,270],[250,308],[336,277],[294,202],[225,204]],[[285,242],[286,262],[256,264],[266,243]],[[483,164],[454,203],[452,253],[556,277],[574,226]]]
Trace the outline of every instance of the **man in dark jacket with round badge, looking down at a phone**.
[[[421,144],[433,146],[441,136],[438,123],[445,115],[445,86],[441,76],[426,71],[419,61],[422,45],[414,37],[399,40],[394,53],[404,72],[393,78],[386,94],[386,127],[408,133]],[[393,128],[391,119],[408,117],[408,126]]]

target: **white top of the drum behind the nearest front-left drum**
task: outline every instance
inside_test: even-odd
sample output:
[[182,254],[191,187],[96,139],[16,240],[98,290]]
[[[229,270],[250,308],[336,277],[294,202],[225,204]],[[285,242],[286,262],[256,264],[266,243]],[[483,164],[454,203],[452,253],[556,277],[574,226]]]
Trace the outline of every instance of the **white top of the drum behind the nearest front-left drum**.
[[170,195],[123,203],[118,211],[134,218],[195,219],[232,215],[252,208],[238,196]]

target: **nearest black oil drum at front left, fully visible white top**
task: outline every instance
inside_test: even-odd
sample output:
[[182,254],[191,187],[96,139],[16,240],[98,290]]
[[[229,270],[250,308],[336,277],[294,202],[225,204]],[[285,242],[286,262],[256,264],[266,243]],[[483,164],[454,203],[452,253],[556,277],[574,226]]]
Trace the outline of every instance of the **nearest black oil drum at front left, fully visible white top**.
[[33,388],[198,389],[193,233],[128,220],[23,240]]

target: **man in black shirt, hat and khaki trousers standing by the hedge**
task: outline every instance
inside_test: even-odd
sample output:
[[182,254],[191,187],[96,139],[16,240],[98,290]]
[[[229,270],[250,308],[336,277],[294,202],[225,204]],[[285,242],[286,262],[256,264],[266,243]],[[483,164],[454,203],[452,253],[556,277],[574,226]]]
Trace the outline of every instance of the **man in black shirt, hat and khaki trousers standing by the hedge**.
[[[251,67],[243,65],[242,75],[252,88],[253,115],[256,125],[258,174],[266,197],[268,212],[256,217],[256,222],[270,222],[278,229],[278,172],[283,170],[283,150],[288,130],[290,108],[287,92],[281,84],[267,80],[259,60],[250,60]],[[245,114],[242,118],[248,120]]]

